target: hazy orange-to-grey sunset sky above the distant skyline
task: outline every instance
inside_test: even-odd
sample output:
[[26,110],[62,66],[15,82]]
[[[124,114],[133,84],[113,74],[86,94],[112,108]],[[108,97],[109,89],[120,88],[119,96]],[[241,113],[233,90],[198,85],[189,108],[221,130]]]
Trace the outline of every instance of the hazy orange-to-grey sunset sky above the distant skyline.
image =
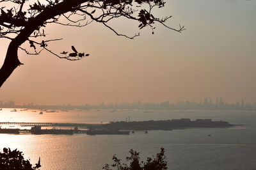
[[[19,51],[19,66],[0,88],[0,100],[17,104],[99,104],[115,102],[200,102],[222,97],[224,102],[256,102],[256,1],[172,0],[156,11],[167,24],[186,27],[177,33],[156,25],[138,30],[138,24],[118,20],[116,36],[106,27],[45,27],[56,52],[71,50],[90,56],[67,61],[42,52]],[[8,41],[0,40],[0,65]]]

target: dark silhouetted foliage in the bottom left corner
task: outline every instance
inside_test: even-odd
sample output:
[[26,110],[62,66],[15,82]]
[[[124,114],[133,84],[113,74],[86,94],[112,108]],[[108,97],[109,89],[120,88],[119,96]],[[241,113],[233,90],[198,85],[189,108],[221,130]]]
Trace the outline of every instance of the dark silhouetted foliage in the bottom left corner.
[[30,164],[29,160],[25,160],[22,151],[10,150],[10,148],[3,148],[3,153],[0,152],[0,169],[10,170],[10,169],[26,169],[35,170],[40,166],[40,158],[38,164],[34,167]]

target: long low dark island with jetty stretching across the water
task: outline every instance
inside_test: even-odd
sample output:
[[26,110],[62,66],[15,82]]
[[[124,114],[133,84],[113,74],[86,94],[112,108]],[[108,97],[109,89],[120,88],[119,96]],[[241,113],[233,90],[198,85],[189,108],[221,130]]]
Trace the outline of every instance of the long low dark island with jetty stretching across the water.
[[[211,119],[189,118],[173,120],[149,120],[149,121],[116,121],[109,123],[90,124],[90,123],[26,123],[26,122],[0,122],[0,125],[19,125],[31,127],[31,129],[21,130],[18,128],[0,128],[0,134],[19,134],[26,132],[30,134],[130,134],[135,131],[148,130],[174,130],[186,128],[225,128],[238,125],[232,125],[228,121],[212,121]],[[42,129],[41,127],[74,127],[74,129]]]

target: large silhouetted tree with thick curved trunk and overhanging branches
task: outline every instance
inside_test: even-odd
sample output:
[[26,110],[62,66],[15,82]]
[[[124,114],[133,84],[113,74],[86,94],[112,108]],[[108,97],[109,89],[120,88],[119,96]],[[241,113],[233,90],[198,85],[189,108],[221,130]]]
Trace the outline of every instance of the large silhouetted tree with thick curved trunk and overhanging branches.
[[[18,49],[33,55],[47,50],[58,58],[70,61],[80,60],[89,55],[77,52],[74,46],[73,52],[69,53],[65,50],[56,53],[48,49],[47,43],[62,39],[45,39],[44,27],[48,24],[83,27],[94,21],[108,27],[116,35],[130,39],[140,34],[120,34],[109,25],[109,21],[118,18],[136,20],[140,29],[150,27],[152,34],[157,22],[168,29],[183,31],[184,26],[179,26],[178,29],[166,26],[166,20],[172,16],[161,19],[153,15],[153,9],[163,8],[164,4],[164,0],[0,0],[0,38],[10,40],[4,64],[0,69],[0,87],[17,66],[23,65],[18,58]],[[22,47],[23,43],[28,43],[33,52]]]

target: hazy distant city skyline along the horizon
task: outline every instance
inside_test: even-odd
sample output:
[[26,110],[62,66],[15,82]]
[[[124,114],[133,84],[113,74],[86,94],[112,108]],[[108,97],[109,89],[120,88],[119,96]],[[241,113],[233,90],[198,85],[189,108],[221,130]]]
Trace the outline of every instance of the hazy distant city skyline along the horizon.
[[256,102],[245,103],[244,100],[241,100],[236,103],[227,103],[223,98],[216,98],[215,102],[212,101],[212,98],[204,98],[204,101],[200,102],[191,102],[188,100],[179,101],[172,103],[167,101],[164,102],[119,102],[119,103],[105,103],[104,101],[99,104],[81,104],[81,105],[72,105],[72,104],[57,104],[57,105],[44,105],[44,104],[35,104],[33,102],[28,104],[15,104],[14,101],[3,102],[0,100],[0,107],[13,107],[13,108],[35,108],[35,109],[221,109],[221,110],[256,110]]

